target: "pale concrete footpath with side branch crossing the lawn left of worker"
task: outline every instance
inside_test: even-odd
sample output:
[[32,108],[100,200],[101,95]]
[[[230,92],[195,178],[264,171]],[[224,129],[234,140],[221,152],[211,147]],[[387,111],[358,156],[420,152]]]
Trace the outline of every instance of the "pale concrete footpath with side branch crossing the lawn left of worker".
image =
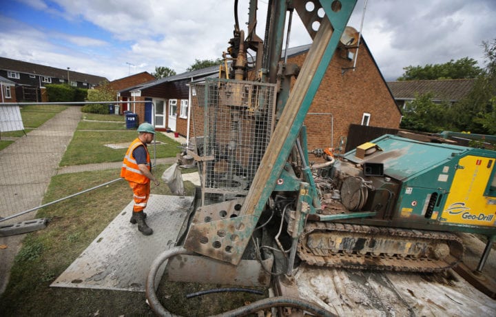
[[[88,164],[59,168],[59,162],[81,121],[80,106],[70,106],[43,125],[23,136],[0,152],[0,216],[6,218],[41,205],[50,184],[57,174],[107,170],[121,167],[121,162]],[[174,138],[179,143],[183,138]],[[130,140],[131,141],[131,140]],[[157,164],[176,162],[176,158],[158,159]],[[36,171],[36,172],[33,172]],[[15,193],[15,194],[12,194]],[[14,208],[9,206],[15,206]],[[9,207],[9,209],[7,209]],[[12,225],[34,218],[36,211],[1,222]],[[25,234],[0,237],[0,294],[7,286],[14,257],[21,248]]]

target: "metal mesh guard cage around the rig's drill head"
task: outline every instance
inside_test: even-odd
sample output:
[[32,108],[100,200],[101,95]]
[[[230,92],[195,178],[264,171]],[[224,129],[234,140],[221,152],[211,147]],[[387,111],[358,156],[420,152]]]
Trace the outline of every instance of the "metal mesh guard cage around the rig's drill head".
[[275,85],[207,79],[194,90],[192,143],[203,192],[211,200],[243,196],[269,144]]

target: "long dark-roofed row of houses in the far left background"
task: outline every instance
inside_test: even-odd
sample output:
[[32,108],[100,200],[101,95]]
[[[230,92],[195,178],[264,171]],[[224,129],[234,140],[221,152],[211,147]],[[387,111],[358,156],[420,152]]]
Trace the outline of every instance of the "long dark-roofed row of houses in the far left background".
[[70,68],[54,68],[6,57],[0,57],[0,76],[15,83],[18,101],[41,101],[40,88],[46,84],[69,83],[72,87],[91,89],[107,81],[105,77],[74,72]]

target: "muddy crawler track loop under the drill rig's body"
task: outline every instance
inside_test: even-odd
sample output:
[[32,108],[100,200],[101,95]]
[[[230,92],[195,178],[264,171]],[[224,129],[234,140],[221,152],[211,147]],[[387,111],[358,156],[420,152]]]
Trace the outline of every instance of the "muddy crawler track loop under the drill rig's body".
[[[368,238],[375,235],[403,237],[407,241],[428,240],[448,243],[450,256],[440,260],[435,258],[402,258],[400,256],[372,256],[369,254],[329,254],[319,256],[313,254],[307,247],[307,236],[314,231],[320,232],[349,232],[363,234]],[[441,272],[454,267],[462,260],[464,245],[455,234],[448,232],[431,232],[415,229],[396,229],[391,227],[371,227],[366,225],[351,225],[330,222],[309,222],[305,226],[300,243],[298,243],[298,256],[310,265],[326,267],[342,267],[347,269],[373,269],[384,271],[402,272]]]

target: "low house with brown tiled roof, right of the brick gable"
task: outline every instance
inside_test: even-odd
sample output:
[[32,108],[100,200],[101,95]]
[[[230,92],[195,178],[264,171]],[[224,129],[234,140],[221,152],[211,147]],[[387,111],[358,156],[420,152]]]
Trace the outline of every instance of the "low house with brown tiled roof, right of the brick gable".
[[448,101],[451,104],[464,99],[471,92],[475,79],[443,79],[422,81],[389,81],[387,85],[393,93],[398,107],[404,109],[406,103],[417,95],[433,94],[434,103]]

